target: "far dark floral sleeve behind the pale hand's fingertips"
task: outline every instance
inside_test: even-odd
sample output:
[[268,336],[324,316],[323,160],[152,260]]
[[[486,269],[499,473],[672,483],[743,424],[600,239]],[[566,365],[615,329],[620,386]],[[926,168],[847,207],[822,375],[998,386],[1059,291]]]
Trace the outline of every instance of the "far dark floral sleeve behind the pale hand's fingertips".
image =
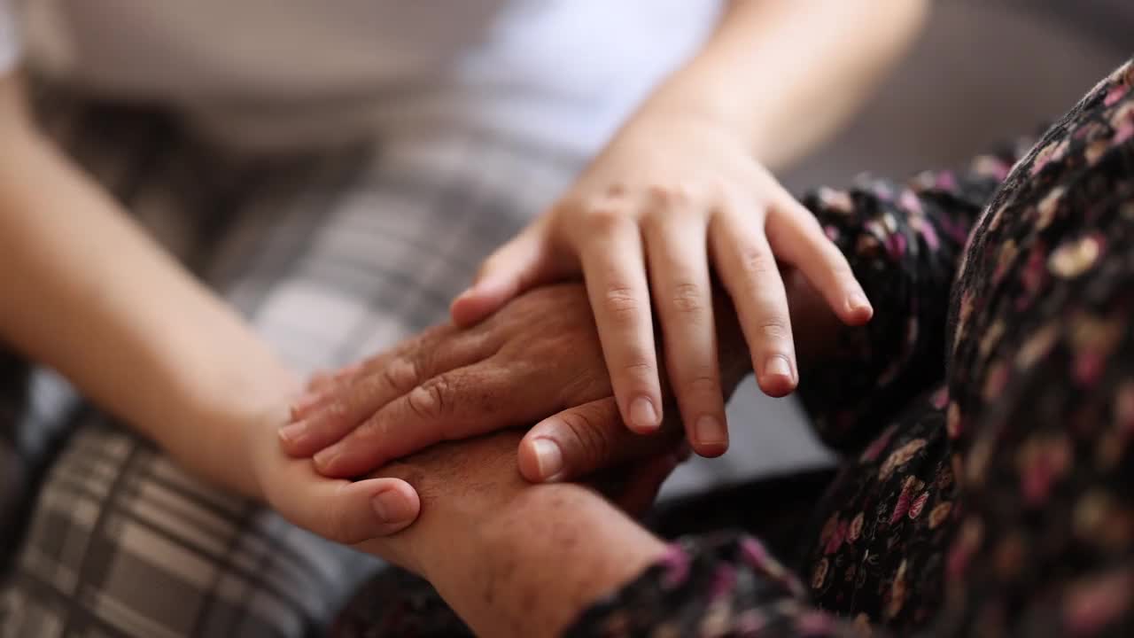
[[835,352],[801,372],[799,396],[823,442],[853,453],[945,371],[949,286],[970,228],[1029,141],[980,156],[963,170],[907,182],[861,177],[818,188],[803,203],[847,255],[874,307],[845,328]]

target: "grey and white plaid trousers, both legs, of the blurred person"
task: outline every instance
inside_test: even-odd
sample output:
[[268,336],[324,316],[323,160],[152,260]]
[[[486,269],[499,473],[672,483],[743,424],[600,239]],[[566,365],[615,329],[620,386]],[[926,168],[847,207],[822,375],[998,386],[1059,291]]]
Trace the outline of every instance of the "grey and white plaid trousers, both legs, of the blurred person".
[[[441,320],[578,166],[447,126],[248,157],[145,109],[49,98],[46,131],[306,371]],[[82,412],[0,591],[0,636],[310,635],[376,566]]]

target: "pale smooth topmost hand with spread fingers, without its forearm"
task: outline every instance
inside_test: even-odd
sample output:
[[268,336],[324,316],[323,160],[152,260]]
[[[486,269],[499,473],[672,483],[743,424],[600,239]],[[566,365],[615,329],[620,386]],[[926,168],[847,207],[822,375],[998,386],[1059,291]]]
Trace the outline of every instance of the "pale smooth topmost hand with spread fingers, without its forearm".
[[526,289],[582,274],[624,421],[650,433],[662,420],[657,317],[689,443],[713,456],[728,430],[710,266],[739,312],[760,387],[781,396],[798,372],[777,261],[802,270],[843,321],[870,319],[846,259],[735,134],[644,111],[558,204],[484,262],[451,313],[472,325]]

